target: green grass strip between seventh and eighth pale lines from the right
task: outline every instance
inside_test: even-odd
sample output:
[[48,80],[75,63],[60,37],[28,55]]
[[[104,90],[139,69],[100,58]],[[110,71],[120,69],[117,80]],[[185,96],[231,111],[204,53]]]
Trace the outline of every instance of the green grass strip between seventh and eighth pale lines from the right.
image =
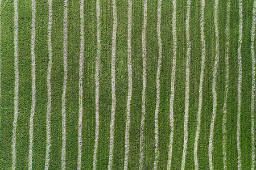
[[[162,66],[160,73],[160,106],[159,106],[159,163],[158,169],[166,169],[168,161],[168,147],[170,142],[170,94],[171,70],[173,57],[172,38],[172,3],[162,1],[161,6],[161,38],[162,38]],[[170,22],[165,22],[165,21]]]

